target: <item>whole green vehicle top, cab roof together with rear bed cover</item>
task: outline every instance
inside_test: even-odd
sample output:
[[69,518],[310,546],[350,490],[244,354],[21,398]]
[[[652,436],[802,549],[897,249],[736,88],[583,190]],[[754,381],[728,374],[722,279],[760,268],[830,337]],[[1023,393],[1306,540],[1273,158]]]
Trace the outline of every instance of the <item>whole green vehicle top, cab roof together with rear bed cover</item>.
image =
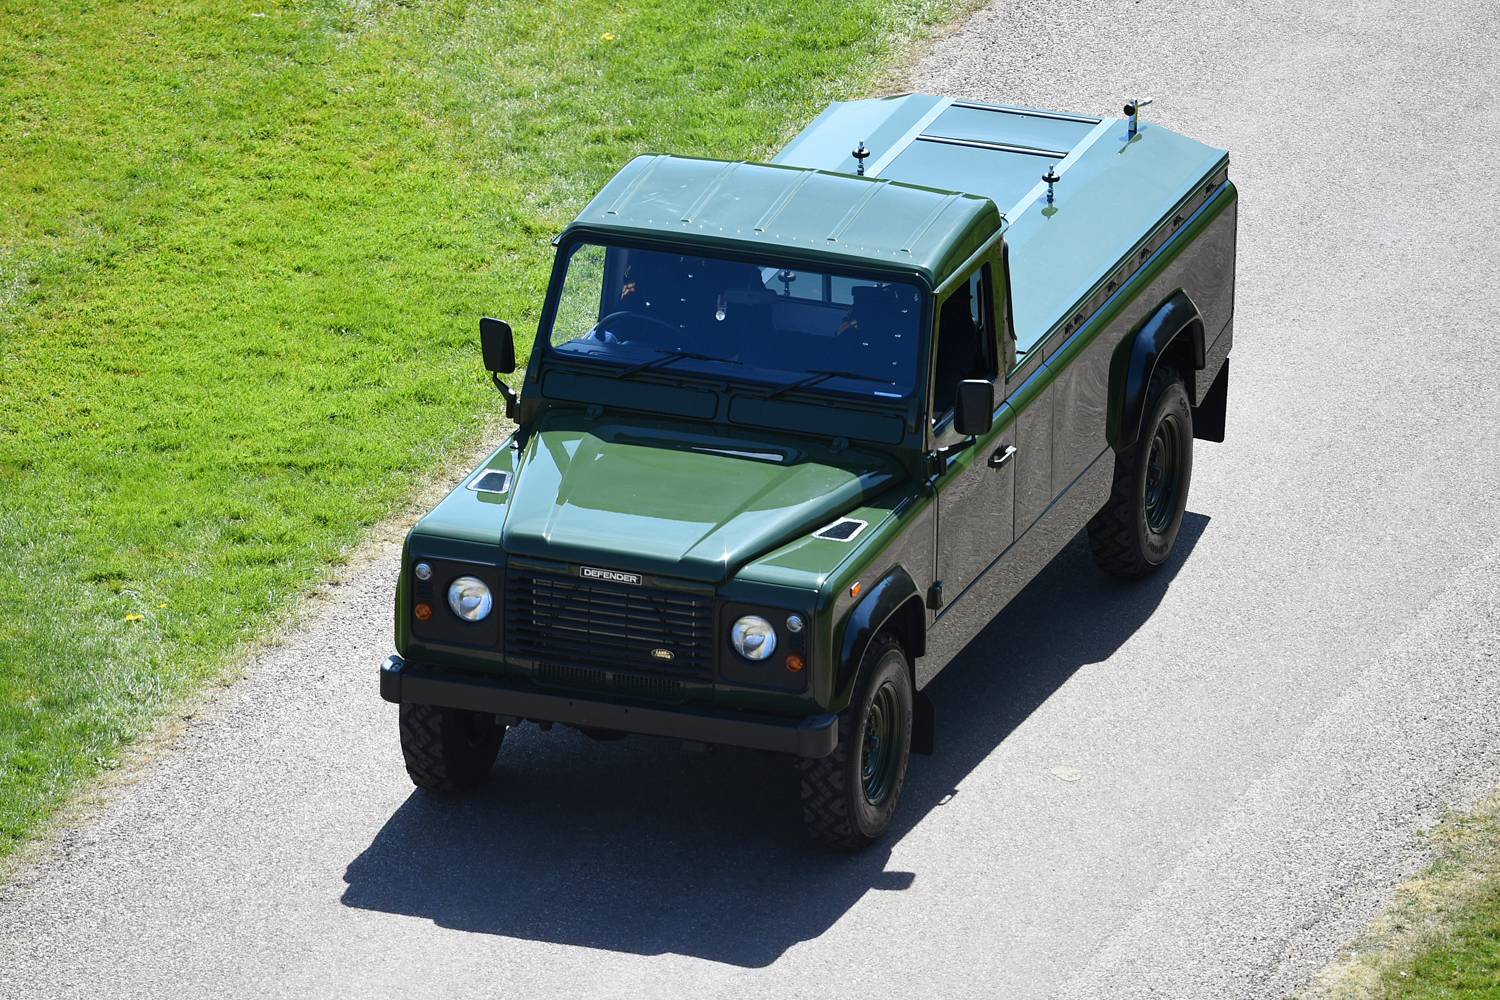
[[1227,162],[1152,121],[1131,133],[1118,117],[933,94],[837,100],[771,163],[638,157],[570,229],[897,267],[938,286],[1004,228],[1026,351]]

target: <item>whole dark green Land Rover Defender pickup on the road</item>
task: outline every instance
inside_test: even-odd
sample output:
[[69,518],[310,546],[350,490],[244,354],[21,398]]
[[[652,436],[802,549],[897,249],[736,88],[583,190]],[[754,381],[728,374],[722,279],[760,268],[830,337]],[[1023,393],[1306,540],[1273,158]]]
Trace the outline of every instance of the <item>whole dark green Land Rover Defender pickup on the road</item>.
[[1080,529],[1161,565],[1224,439],[1228,156],[1138,111],[906,94],[770,163],[626,165],[556,240],[519,394],[480,324],[516,430],[406,538],[411,780],[561,723],[786,754],[818,838],[880,837],[924,685]]

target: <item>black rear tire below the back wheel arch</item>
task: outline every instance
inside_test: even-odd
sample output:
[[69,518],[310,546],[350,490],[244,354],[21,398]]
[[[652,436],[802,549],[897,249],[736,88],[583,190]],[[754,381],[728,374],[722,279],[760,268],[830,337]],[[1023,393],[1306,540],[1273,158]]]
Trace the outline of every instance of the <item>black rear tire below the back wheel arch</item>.
[[1110,499],[1089,522],[1089,547],[1101,570],[1137,580],[1172,555],[1192,480],[1192,408],[1182,375],[1158,366],[1146,387],[1140,438],[1114,456]]

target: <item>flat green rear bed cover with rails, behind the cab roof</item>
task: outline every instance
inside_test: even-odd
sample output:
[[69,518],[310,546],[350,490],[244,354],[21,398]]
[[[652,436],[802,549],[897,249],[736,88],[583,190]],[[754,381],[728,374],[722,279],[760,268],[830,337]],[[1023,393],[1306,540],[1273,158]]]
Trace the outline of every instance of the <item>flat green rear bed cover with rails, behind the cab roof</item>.
[[[1020,349],[1056,324],[1131,258],[1194,192],[1216,187],[1224,150],[1144,120],[1038,111],[897,94],[828,105],[786,144],[777,163],[854,172],[982,195],[1005,216],[1011,315]],[[1046,199],[1046,174],[1056,202]]]

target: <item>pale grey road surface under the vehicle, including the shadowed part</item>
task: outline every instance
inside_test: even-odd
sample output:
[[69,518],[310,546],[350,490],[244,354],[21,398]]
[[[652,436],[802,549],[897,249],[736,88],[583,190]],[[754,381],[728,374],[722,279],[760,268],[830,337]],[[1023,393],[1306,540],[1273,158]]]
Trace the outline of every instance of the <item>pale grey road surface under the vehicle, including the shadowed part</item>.
[[[1278,997],[1500,783],[1500,7],[1011,3],[918,87],[1233,153],[1228,442],[1164,573],[1074,543],[932,693],[896,835],[525,729],[412,793],[382,550],[0,891],[0,996]],[[858,138],[858,136],[850,136]]]

